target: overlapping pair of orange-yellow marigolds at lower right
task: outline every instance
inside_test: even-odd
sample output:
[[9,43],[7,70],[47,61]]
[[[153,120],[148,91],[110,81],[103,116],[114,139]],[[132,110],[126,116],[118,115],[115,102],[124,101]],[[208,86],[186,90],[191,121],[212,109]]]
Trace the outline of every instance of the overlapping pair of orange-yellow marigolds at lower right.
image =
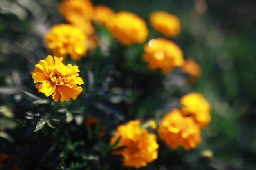
[[174,108],[163,117],[158,134],[171,149],[190,150],[200,143],[201,128],[211,121],[211,106],[200,93],[184,95],[180,102],[181,110]]

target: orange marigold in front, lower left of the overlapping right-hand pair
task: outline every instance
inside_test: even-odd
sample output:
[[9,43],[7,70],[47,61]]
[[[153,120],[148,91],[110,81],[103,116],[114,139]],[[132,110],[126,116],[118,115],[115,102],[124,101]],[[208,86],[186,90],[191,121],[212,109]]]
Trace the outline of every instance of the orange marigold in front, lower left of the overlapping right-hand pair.
[[164,115],[157,131],[159,137],[172,150],[179,146],[190,150],[201,142],[198,124],[191,117],[182,115],[177,108]]

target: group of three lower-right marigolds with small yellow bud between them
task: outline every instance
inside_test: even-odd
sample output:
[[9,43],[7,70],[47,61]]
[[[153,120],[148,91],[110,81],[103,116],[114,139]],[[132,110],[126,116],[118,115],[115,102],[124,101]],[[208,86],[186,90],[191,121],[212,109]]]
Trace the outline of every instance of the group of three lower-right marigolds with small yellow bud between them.
[[[189,93],[181,98],[181,110],[173,108],[164,115],[157,129],[159,138],[175,150],[179,146],[186,150],[194,149],[201,142],[201,128],[211,121],[211,106],[200,93]],[[146,124],[157,128],[154,121]],[[129,121],[126,125],[117,127],[117,132],[111,138],[110,144],[121,136],[114,149],[126,146],[123,150],[113,151],[115,155],[123,156],[123,165],[140,168],[157,159],[156,138],[146,129],[141,129],[140,121]]]

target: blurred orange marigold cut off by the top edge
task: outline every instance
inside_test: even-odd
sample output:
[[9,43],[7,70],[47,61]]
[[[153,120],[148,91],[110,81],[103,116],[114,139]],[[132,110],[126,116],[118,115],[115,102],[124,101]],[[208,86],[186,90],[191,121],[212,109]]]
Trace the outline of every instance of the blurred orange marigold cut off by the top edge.
[[63,0],[58,9],[72,24],[82,20],[91,20],[93,15],[93,6],[90,0]]

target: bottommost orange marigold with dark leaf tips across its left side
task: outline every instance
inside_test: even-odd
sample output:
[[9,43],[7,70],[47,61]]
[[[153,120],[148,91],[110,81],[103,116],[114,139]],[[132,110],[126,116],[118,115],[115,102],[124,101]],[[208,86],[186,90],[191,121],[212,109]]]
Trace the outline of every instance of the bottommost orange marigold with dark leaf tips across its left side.
[[122,150],[114,150],[112,153],[123,156],[124,166],[140,168],[157,159],[159,145],[156,136],[150,134],[146,129],[141,129],[139,120],[129,121],[126,125],[118,126],[110,144],[114,144],[120,136],[119,143],[113,149],[126,147]]

